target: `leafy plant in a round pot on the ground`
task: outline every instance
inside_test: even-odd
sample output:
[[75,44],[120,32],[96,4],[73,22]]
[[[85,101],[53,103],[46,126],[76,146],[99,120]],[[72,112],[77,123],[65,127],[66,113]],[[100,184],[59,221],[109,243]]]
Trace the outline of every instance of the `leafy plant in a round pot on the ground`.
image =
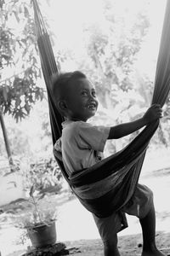
[[[46,247],[56,242],[56,209],[48,207],[42,201],[44,195],[34,196],[35,186],[31,186],[30,199],[31,211],[20,218],[20,225],[27,230],[33,247]],[[40,203],[41,201],[41,203]]]

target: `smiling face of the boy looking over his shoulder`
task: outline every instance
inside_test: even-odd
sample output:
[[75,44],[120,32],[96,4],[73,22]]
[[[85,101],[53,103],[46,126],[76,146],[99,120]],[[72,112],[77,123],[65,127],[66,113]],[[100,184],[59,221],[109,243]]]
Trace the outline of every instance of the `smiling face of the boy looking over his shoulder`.
[[65,92],[66,116],[69,119],[87,121],[98,108],[93,84],[88,79],[71,81]]

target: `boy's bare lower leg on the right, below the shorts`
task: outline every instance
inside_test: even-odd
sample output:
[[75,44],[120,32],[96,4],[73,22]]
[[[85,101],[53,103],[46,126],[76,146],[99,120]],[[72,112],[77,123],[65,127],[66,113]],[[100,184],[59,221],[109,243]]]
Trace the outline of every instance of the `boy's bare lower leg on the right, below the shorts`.
[[156,248],[156,213],[155,208],[151,207],[150,212],[139,219],[143,232],[143,253],[142,256],[163,256]]

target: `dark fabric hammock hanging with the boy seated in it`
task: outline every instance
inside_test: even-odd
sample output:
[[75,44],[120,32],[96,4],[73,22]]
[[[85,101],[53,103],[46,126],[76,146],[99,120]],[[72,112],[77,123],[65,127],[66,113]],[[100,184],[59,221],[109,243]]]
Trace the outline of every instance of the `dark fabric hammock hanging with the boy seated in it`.
[[[61,136],[62,116],[55,108],[53,95],[51,90],[52,76],[59,73],[54,60],[54,53],[48,32],[44,25],[37,0],[33,0],[35,22],[37,28],[37,44],[42,64],[42,73],[48,91],[48,106],[53,143]],[[167,0],[167,9],[164,18],[164,24],[161,34],[161,45],[156,66],[155,89],[152,98],[153,103],[165,103],[168,92],[170,90],[170,1]],[[113,211],[119,211],[132,197],[136,185],[139,181],[139,174],[143,166],[144,155],[151,137],[154,135],[159,121],[153,122],[144,128],[131,143],[123,148],[120,152],[101,160],[96,165],[77,172],[68,177],[65,167],[59,156],[59,152],[54,150],[54,156],[59,164],[59,168],[63,173],[66,181],[70,184],[73,191],[75,188],[81,188],[83,185],[92,186],[95,183],[110,177],[114,173],[121,175],[122,169],[127,172],[122,177],[121,183],[115,183],[110,191],[99,197],[80,196],[76,193],[77,198],[84,207],[90,212],[94,212],[97,216],[104,218]],[[119,173],[120,172],[120,173]],[[119,173],[119,174],[117,174]]]

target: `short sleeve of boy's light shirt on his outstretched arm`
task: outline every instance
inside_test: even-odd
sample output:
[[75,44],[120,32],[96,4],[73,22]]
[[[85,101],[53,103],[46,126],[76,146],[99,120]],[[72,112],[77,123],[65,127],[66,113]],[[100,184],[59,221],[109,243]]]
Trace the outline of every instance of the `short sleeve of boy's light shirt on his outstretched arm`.
[[110,127],[102,125],[97,126],[80,122],[77,127],[79,147],[103,152],[106,140],[109,137],[110,129]]

